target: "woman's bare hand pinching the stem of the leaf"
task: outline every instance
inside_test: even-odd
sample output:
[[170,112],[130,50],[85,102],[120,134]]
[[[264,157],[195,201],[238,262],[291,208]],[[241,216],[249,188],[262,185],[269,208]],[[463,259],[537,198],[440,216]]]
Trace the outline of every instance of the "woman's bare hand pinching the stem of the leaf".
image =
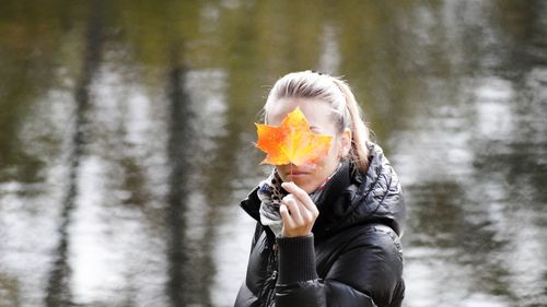
[[289,194],[281,200],[279,212],[283,221],[283,237],[301,237],[312,233],[319,211],[310,196],[294,182],[283,182],[281,187]]

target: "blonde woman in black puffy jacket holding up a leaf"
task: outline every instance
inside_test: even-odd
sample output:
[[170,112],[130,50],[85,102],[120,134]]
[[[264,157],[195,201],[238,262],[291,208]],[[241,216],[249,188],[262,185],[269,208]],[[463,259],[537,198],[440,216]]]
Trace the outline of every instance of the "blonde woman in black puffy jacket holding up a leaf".
[[316,167],[279,165],[242,201],[257,221],[236,307],[400,306],[405,204],[396,173],[369,141],[346,82],[311,71],[278,80],[265,122],[296,107],[333,137]]

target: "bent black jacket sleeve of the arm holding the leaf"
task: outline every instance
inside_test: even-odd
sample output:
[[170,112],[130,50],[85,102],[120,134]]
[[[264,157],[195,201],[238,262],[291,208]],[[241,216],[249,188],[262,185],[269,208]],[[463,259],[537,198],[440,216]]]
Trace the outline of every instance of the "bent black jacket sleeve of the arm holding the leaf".
[[278,238],[276,307],[400,306],[404,287],[398,237],[375,229],[352,239],[324,280],[315,269],[314,238]]

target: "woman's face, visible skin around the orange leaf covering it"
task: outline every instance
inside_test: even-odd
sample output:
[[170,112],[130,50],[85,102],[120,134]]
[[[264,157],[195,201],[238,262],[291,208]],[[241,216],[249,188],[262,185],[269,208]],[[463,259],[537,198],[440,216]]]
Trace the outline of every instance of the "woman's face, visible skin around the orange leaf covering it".
[[315,191],[330,176],[351,146],[351,131],[346,129],[339,134],[333,110],[328,103],[310,98],[281,98],[267,108],[268,125],[279,126],[283,118],[296,107],[305,115],[310,129],[317,134],[331,135],[328,155],[317,161],[315,167],[293,164],[278,165],[277,170],[283,181],[293,181],[307,193]]

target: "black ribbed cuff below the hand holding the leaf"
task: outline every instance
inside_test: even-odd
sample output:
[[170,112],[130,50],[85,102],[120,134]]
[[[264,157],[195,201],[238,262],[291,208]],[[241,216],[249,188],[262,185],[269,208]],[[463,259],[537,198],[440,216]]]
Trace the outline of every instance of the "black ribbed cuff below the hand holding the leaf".
[[291,284],[317,279],[313,235],[276,238],[279,247],[278,284]]

